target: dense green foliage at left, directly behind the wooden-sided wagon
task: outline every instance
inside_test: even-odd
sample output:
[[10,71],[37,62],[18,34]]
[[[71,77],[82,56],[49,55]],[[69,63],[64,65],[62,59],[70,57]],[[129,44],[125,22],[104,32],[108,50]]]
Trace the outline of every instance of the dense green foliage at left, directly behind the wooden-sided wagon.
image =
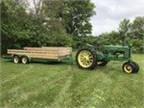
[[[3,53],[8,48],[25,46],[71,46],[72,39],[59,22],[51,23],[44,18],[35,17],[35,14],[26,11],[25,5],[20,1],[2,1],[1,10]],[[46,22],[49,24],[45,24]]]

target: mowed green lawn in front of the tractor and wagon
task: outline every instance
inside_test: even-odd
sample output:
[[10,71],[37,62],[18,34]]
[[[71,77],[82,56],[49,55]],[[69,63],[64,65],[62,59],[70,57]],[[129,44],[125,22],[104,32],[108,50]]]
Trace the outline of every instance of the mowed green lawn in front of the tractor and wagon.
[[143,108],[144,55],[133,59],[138,74],[123,62],[82,70],[64,63],[13,64],[0,60],[0,108]]

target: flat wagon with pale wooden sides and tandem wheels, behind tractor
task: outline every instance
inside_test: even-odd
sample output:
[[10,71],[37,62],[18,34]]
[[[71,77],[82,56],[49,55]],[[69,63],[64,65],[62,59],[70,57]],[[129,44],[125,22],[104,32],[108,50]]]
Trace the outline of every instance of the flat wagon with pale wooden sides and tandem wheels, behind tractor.
[[71,47],[24,47],[23,49],[8,49],[14,63],[29,63],[32,59],[72,61]]

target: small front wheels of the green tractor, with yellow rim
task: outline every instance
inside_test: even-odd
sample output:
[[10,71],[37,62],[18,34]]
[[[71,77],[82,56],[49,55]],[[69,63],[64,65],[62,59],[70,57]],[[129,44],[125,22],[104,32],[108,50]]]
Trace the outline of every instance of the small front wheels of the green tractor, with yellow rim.
[[123,71],[128,74],[137,73],[139,70],[139,66],[135,62],[125,62],[122,68],[123,68]]

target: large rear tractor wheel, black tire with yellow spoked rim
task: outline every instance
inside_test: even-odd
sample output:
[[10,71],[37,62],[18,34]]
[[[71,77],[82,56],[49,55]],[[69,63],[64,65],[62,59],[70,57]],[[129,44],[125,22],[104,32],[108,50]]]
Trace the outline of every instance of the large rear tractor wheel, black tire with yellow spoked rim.
[[76,54],[76,62],[80,68],[94,69],[96,65],[96,53],[90,49],[80,49]]

